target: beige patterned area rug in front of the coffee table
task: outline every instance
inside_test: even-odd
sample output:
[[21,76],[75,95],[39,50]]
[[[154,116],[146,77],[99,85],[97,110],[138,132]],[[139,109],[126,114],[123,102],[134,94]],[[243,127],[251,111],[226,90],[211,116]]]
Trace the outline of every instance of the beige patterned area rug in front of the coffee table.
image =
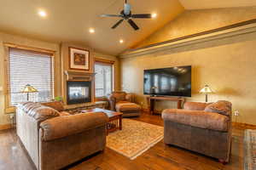
[[164,127],[123,119],[123,129],[108,134],[107,146],[133,160],[163,137]]

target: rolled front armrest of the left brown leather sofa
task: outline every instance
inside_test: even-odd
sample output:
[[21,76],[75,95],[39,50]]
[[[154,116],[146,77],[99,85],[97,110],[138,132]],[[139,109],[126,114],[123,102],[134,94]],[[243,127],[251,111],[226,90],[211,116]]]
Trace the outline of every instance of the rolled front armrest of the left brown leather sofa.
[[41,139],[44,141],[61,139],[75,133],[106,126],[107,122],[108,116],[102,112],[58,116],[40,124]]

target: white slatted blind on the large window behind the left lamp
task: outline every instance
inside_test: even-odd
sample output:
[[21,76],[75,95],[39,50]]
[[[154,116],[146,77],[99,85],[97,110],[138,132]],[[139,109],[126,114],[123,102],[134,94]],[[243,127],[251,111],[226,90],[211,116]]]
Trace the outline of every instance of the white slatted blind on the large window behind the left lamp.
[[27,101],[21,90],[30,84],[38,92],[30,101],[45,102],[54,95],[54,64],[51,54],[9,48],[9,106]]

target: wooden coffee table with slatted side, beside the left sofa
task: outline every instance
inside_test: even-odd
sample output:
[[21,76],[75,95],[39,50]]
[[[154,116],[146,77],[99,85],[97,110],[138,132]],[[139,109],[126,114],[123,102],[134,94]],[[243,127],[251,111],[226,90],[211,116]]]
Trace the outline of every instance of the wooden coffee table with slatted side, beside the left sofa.
[[109,111],[105,109],[100,109],[100,108],[95,108],[91,110],[84,110],[82,111],[84,113],[86,112],[103,112],[106,113],[108,116],[108,126],[107,126],[107,131],[108,133],[111,133],[116,130],[122,130],[122,115],[123,113],[117,112],[117,111]]

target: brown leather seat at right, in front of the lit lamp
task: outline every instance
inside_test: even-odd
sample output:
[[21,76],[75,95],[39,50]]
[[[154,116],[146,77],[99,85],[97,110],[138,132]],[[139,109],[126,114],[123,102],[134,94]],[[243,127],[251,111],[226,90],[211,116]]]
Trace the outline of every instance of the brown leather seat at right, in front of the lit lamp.
[[221,162],[230,161],[231,103],[187,102],[184,109],[166,109],[164,142],[193,150]]

